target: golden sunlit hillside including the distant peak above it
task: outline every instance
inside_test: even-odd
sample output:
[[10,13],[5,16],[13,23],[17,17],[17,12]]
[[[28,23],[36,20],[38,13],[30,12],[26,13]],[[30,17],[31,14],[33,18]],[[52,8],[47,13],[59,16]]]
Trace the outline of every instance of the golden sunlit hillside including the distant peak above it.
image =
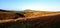
[[25,17],[37,17],[41,15],[50,15],[50,14],[57,14],[60,12],[48,12],[48,11],[35,11],[35,10],[25,10],[24,15]]

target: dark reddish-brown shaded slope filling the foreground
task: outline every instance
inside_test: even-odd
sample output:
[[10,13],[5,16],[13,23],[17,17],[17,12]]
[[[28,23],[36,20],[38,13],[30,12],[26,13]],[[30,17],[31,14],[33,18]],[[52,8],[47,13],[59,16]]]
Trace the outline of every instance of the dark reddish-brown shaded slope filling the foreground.
[[[6,20],[5,20],[6,21]],[[3,25],[2,25],[3,24]],[[60,14],[2,21],[2,28],[60,28]],[[13,25],[13,26],[12,26]]]

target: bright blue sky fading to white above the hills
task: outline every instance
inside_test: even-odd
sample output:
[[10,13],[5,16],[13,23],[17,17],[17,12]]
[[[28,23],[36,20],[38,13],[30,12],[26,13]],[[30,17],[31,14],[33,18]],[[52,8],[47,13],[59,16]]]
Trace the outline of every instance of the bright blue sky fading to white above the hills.
[[0,9],[60,11],[60,0],[0,0]]

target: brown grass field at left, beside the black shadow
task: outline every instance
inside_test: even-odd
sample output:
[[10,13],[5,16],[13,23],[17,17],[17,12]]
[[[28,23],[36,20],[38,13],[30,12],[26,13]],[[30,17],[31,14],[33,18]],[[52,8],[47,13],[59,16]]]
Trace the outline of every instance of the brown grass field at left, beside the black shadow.
[[16,13],[13,12],[0,12],[0,20],[2,19],[13,19]]

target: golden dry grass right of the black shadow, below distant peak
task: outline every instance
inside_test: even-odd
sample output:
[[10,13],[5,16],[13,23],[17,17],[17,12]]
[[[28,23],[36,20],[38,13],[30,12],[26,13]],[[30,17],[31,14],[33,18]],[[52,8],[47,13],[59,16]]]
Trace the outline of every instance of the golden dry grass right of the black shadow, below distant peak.
[[60,14],[58,12],[25,12],[25,17],[37,17],[37,16],[45,16],[45,15],[55,15]]

